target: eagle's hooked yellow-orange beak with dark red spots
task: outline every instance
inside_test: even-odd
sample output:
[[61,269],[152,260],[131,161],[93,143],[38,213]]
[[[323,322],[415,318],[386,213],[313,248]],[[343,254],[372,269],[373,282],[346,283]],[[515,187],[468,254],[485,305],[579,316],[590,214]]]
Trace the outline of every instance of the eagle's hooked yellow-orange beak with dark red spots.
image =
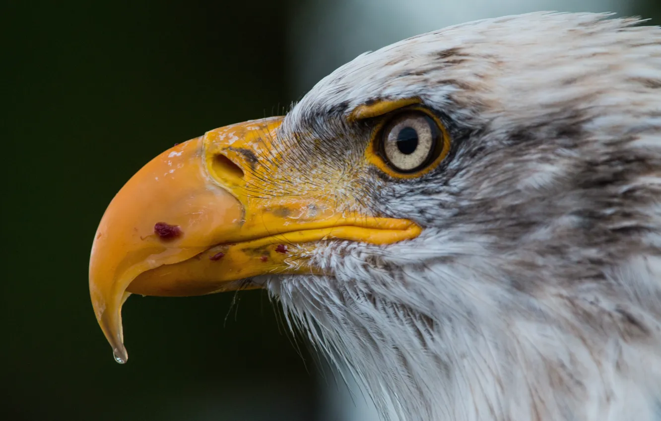
[[128,358],[121,309],[131,293],[192,296],[237,289],[256,275],[319,273],[299,246],[420,234],[408,220],[338,213],[329,199],[336,185],[301,192],[295,180],[270,178],[287,153],[277,145],[280,123],[229,125],[176,145],[112,199],[92,245],[89,288],[118,362]]

